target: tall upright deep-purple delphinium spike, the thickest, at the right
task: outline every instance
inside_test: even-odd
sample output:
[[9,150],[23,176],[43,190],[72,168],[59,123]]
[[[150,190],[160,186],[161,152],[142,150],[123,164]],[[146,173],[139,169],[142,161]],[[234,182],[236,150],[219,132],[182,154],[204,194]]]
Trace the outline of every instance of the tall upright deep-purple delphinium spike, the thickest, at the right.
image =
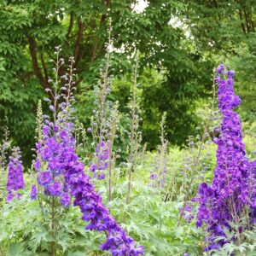
[[256,210],[254,174],[245,157],[241,121],[233,111],[241,102],[234,92],[234,75],[235,72],[223,64],[217,68],[218,108],[223,114],[221,136],[213,140],[218,145],[217,166],[212,184],[201,183],[199,187],[200,208],[196,223],[197,226],[206,224],[210,233],[207,250],[224,245],[224,240],[214,239],[225,236],[224,228],[231,229],[229,222],[237,224],[246,207],[252,212],[251,218]]

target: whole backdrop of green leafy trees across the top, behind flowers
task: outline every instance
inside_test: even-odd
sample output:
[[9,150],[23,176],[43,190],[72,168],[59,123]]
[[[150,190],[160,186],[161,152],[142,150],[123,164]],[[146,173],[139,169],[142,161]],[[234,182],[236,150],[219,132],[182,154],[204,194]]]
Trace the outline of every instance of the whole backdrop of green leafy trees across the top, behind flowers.
[[150,0],[137,10],[138,2],[144,1],[1,1],[0,125],[9,126],[13,142],[25,154],[34,145],[36,106],[50,88],[56,45],[61,45],[65,60],[75,58],[75,108],[89,127],[93,84],[105,61],[110,17],[113,101],[119,100],[121,113],[129,113],[137,49],[143,140],[149,149],[159,143],[158,123],[164,112],[170,143],[183,146],[186,137],[195,134],[201,124],[198,102],[211,94],[212,69],[222,61],[236,69],[241,117],[248,131],[256,132],[255,1]]

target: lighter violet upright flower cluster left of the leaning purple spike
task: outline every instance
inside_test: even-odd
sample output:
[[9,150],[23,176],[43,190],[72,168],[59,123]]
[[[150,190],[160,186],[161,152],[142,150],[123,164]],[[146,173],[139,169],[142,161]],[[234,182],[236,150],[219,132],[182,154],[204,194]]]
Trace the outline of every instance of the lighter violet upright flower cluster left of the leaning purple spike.
[[[60,160],[63,157],[62,142],[68,137],[68,132],[73,129],[73,124],[67,123],[65,128],[66,130],[60,131],[58,125],[53,125],[49,123],[47,117],[44,118],[43,138],[37,143],[38,157],[34,167],[38,172],[38,184],[44,187],[44,195],[58,196],[61,205],[69,207],[71,197],[68,194],[67,183],[63,180],[64,170]],[[37,187],[33,185],[32,200],[36,199],[37,194]]]

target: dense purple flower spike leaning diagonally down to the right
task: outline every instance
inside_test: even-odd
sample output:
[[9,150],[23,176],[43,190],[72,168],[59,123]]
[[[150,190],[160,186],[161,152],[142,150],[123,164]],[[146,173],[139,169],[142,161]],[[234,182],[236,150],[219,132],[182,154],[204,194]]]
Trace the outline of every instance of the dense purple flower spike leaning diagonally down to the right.
[[102,250],[110,250],[113,255],[142,255],[143,247],[136,247],[135,242],[125,234],[103,205],[90,177],[84,173],[84,165],[75,154],[73,145],[68,139],[63,140],[62,144],[65,147],[65,157],[61,158],[65,181],[69,185],[70,194],[75,198],[73,205],[80,208],[82,219],[90,223],[86,229],[105,232],[107,241],[102,244]]

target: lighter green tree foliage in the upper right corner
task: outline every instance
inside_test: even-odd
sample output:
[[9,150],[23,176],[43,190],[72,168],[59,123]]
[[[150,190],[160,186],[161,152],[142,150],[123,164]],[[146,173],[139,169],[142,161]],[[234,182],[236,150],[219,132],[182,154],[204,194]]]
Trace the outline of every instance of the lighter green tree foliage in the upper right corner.
[[190,44],[216,65],[222,61],[237,70],[241,117],[250,119],[256,109],[254,1],[183,0],[177,4],[177,17],[189,32]]

